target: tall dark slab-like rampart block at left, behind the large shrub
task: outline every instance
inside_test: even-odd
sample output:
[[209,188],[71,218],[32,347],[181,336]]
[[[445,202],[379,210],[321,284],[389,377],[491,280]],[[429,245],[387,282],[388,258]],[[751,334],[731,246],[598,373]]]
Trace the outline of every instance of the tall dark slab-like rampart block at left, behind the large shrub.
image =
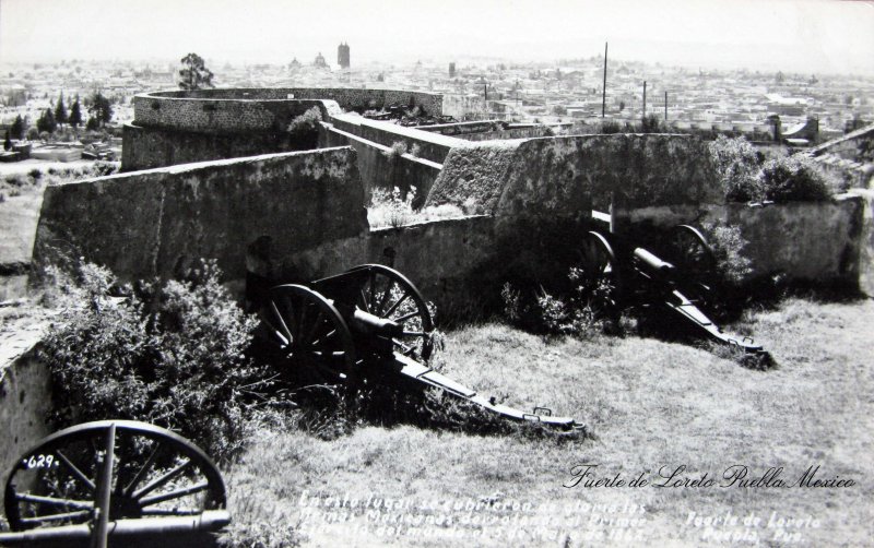
[[84,257],[122,279],[179,275],[215,259],[246,276],[250,247],[275,257],[368,229],[351,147],[165,167],[48,187],[37,269]]

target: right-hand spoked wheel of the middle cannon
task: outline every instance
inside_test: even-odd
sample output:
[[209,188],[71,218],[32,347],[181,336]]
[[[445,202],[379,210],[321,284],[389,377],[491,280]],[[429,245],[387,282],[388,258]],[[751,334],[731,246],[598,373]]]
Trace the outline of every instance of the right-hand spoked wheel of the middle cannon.
[[403,327],[403,336],[392,339],[394,348],[413,359],[427,360],[434,350],[434,318],[416,286],[403,274],[381,264],[362,264],[349,272],[367,271],[358,276],[357,307]]

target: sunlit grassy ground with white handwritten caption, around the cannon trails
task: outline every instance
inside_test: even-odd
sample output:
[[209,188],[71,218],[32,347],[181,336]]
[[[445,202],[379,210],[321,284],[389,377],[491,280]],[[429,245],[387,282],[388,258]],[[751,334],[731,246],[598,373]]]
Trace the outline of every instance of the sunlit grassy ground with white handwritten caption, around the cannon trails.
[[[686,525],[689,512],[713,515],[731,510],[741,519],[755,512],[764,519],[761,527],[744,529],[739,524],[716,531],[755,533],[760,546],[786,545],[773,540],[775,528],[765,527],[772,511],[819,521],[816,528],[784,529],[800,533],[803,546],[863,546],[871,537],[874,495],[870,469],[874,302],[819,305],[790,299],[777,310],[752,315],[751,326],[775,355],[777,369],[748,370],[697,348],[638,337],[547,343],[500,325],[451,333],[445,353],[451,377],[499,398],[506,395],[505,403],[511,405],[550,405],[559,414],[574,415],[593,427],[597,440],[480,437],[409,426],[362,427],[330,442],[297,431],[265,432],[244,463],[228,473],[237,531],[262,522],[261,538],[283,538],[300,521],[297,503],[308,490],[322,496],[349,493],[351,499],[403,499],[413,507],[409,515],[442,513],[457,521],[466,514],[463,509],[422,510],[423,501],[518,500],[531,503],[531,509],[481,509],[472,515],[509,520],[516,514],[552,515],[556,523],[546,537],[528,527],[508,540],[506,535],[515,531],[510,522],[487,528],[487,538],[473,537],[479,526],[462,525],[465,536],[457,540],[411,540],[377,537],[378,525],[373,522],[368,533],[361,533],[355,527],[368,523],[368,515],[358,509],[352,512],[353,525],[312,531],[306,545],[706,546],[712,538],[705,537],[705,527]],[[783,478],[790,481],[811,464],[822,464],[820,477],[852,477],[857,485],[846,489],[562,487],[570,478],[570,466],[581,462],[600,464],[603,473],[598,477],[622,473],[626,479],[645,469],[654,474],[662,465],[685,464],[687,476],[708,472],[717,478],[732,464],[751,466],[751,477],[770,466],[784,466]],[[551,503],[559,505],[550,509]],[[640,535],[638,540],[587,540],[587,534],[607,535],[611,527],[590,525],[592,511],[581,503],[646,507],[642,514],[633,515],[646,519],[641,527],[630,529]]]

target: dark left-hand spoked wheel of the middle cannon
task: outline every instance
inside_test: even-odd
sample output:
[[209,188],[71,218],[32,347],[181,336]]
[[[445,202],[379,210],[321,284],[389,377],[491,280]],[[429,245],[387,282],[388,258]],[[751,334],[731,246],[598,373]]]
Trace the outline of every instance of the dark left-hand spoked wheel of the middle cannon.
[[302,285],[276,286],[259,315],[292,367],[316,366],[344,381],[353,378],[356,356],[352,334],[321,294]]

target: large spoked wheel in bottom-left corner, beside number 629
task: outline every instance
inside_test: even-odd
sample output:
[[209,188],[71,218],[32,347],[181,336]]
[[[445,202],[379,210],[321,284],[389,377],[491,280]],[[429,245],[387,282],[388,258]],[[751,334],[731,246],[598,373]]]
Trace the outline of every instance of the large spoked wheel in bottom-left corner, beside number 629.
[[55,432],[24,453],[8,478],[3,505],[13,531],[92,522],[96,527],[95,510],[102,508],[108,508],[104,527],[107,519],[196,516],[225,508],[224,481],[203,451],[133,420]]

